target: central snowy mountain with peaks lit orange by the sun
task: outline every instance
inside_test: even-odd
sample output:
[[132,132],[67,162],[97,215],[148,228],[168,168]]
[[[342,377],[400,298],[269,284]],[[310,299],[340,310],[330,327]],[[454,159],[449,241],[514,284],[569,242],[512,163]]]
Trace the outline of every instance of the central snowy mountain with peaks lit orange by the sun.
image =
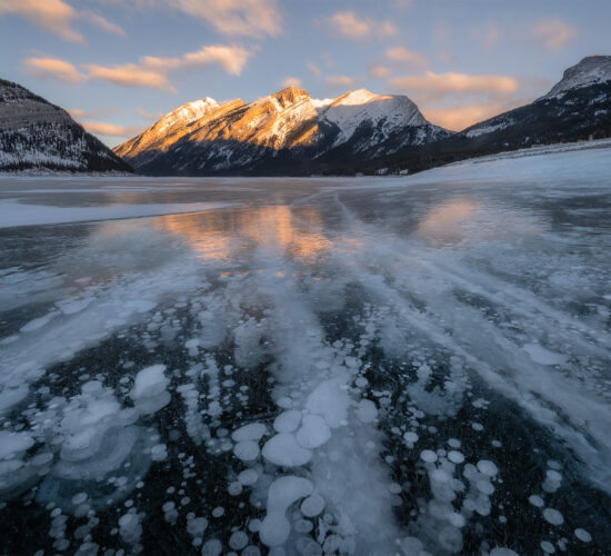
[[151,175],[296,175],[450,135],[429,123],[408,97],[360,89],[319,100],[289,87],[249,103],[190,102],[114,152]]

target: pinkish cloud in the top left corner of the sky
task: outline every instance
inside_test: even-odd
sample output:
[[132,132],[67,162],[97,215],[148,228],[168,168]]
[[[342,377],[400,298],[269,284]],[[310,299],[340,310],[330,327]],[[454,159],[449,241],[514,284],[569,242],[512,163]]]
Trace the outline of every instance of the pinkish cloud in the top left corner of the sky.
[[0,0],[0,17],[19,16],[60,39],[84,43],[82,34],[71,27],[77,11],[62,0]]

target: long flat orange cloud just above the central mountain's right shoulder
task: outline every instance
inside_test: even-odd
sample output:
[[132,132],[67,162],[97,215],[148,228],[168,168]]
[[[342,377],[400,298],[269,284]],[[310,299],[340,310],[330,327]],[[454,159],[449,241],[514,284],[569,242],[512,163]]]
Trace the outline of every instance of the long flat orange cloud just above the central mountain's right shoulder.
[[520,87],[515,79],[507,76],[469,76],[453,71],[447,73],[427,71],[423,76],[398,77],[391,79],[390,83],[394,89],[428,101],[457,95],[512,95]]

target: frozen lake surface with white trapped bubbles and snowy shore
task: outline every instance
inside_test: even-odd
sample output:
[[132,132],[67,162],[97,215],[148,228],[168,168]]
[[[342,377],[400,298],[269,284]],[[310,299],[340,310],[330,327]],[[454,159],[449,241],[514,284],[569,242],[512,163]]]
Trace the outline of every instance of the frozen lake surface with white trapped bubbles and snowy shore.
[[0,179],[2,554],[611,554],[611,148]]

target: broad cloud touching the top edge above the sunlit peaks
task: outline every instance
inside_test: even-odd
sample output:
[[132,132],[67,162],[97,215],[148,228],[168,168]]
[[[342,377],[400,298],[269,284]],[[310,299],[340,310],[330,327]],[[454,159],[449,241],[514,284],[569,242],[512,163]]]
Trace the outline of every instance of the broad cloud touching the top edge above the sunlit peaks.
[[282,30],[276,0],[167,0],[167,3],[229,37],[260,39],[276,37]]

